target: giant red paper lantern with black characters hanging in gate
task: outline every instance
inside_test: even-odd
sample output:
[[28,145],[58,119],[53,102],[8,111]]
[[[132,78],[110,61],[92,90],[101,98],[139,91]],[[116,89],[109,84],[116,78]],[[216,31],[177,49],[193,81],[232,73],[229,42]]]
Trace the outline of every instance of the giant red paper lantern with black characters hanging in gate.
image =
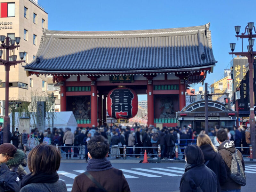
[[108,115],[114,119],[129,119],[138,112],[138,95],[126,87],[112,89],[107,102]]

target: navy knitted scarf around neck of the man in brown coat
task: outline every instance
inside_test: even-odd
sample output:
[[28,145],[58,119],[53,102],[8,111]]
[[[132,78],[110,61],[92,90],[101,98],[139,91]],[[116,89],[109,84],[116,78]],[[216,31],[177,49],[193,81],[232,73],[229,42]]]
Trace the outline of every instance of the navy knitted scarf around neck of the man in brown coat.
[[87,171],[105,171],[112,169],[110,161],[106,158],[103,159],[90,159],[86,167]]

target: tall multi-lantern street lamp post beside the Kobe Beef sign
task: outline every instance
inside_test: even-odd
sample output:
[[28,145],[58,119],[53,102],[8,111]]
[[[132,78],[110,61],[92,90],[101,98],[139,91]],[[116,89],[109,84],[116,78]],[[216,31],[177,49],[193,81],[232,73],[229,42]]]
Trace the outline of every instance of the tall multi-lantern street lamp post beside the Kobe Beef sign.
[[[244,33],[239,35],[241,26],[235,26],[236,30],[236,37],[238,40],[238,37],[242,39],[242,52],[234,52],[235,50],[235,43],[230,43],[230,48],[232,52],[229,52],[229,54],[234,55],[241,55],[248,58],[249,63],[249,95],[250,95],[250,132],[251,132],[251,145],[253,150],[253,158],[256,158],[256,141],[255,141],[255,115],[254,115],[254,93],[253,93],[253,58],[256,56],[256,52],[253,51],[253,44],[254,39],[253,37],[256,37],[256,30],[253,26],[254,23],[250,22],[245,27]],[[255,34],[252,34],[252,29],[254,29]],[[246,34],[247,32],[247,34]],[[249,45],[247,45],[247,51],[243,51],[243,39],[248,38]]]

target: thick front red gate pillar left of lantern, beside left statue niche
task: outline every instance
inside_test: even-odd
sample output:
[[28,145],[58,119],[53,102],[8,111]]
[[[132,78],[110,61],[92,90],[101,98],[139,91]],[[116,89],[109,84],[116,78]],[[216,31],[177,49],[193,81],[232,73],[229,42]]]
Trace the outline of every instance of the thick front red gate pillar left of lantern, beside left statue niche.
[[98,116],[97,116],[97,85],[96,78],[91,78],[91,124],[94,127],[98,126]]

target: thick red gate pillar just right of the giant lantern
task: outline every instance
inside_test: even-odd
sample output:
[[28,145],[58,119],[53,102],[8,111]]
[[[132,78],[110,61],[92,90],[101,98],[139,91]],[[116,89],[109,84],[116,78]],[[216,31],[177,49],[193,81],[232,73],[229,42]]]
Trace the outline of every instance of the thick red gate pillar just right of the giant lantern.
[[154,125],[154,90],[153,90],[153,77],[148,77],[148,126]]

